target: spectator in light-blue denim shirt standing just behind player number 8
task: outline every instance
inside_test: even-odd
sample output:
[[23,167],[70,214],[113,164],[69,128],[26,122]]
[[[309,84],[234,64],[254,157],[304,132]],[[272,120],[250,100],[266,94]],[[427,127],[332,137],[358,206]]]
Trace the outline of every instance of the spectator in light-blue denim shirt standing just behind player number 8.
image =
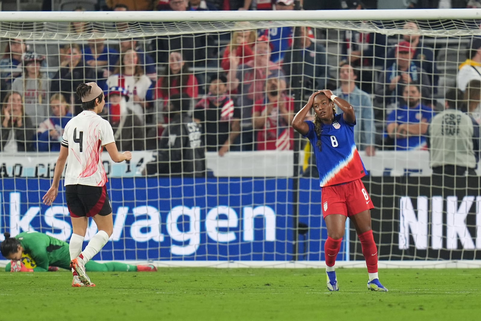
[[357,125],[354,128],[354,142],[357,149],[366,151],[367,156],[374,156],[376,154],[374,142],[376,127],[374,126],[374,111],[371,97],[367,92],[360,90],[356,86],[355,80],[357,75],[350,64],[341,66],[339,76],[341,77],[341,87],[334,90],[333,93],[348,101],[354,108]]

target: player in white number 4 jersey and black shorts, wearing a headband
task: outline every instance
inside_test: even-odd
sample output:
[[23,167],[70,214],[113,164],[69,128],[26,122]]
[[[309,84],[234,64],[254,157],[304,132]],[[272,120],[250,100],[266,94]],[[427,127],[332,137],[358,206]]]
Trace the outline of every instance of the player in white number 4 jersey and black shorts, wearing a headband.
[[[85,272],[85,264],[99,253],[114,229],[112,207],[105,187],[107,175],[102,164],[102,150],[105,147],[116,163],[130,160],[132,154],[117,150],[112,126],[98,115],[105,105],[101,88],[95,82],[89,82],[78,85],[76,91],[82,100],[83,112],[65,126],[52,186],[42,199],[44,204],[51,205],[57,197],[67,161],[64,185],[73,229],[69,244],[70,267],[74,275],[72,286],[80,282],[83,286],[95,286]],[[99,231],[82,251],[89,217],[93,218]]]

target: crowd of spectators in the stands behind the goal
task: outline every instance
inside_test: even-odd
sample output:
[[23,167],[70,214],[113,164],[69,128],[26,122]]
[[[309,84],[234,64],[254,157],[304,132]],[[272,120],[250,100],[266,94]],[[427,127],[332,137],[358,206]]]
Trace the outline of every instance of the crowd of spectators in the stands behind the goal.
[[[300,5],[326,9],[316,8],[316,2],[322,1]],[[366,8],[358,0],[325,2],[328,9]],[[107,0],[104,5],[114,11],[299,9],[294,0]],[[472,0],[464,5],[481,7]],[[469,135],[473,142],[479,139],[480,38],[468,39],[467,59],[459,62],[453,85],[461,94],[453,105],[446,104],[447,86],[439,84],[443,72],[435,48],[424,42],[416,22],[405,22],[405,34],[397,37],[339,31],[334,64],[325,46],[326,30],[245,26],[232,34],[113,41],[101,39],[104,24],[71,23],[69,32],[92,33],[91,39],[50,45],[42,53],[24,39],[7,39],[0,60],[0,152],[59,151],[65,124],[81,112],[76,87],[89,81],[104,90],[108,104],[102,116],[112,124],[120,150],[159,150],[159,155],[174,157],[162,149],[174,146],[168,135],[184,112],[190,120],[184,120],[187,131],[181,133],[192,139],[179,141],[177,148],[190,146],[220,156],[229,151],[292,150],[294,97],[305,100],[313,90],[325,88],[354,106],[356,145],[368,156],[376,150],[428,148],[433,141],[428,137],[431,119],[446,106],[473,119],[475,129]],[[107,27],[119,34],[135,28],[122,22]],[[476,163],[479,145],[470,147]]]

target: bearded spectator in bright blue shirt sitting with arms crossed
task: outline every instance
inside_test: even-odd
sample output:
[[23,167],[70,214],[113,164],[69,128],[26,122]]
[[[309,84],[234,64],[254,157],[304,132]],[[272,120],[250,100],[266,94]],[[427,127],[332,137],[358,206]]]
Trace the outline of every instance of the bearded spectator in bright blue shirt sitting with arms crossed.
[[404,104],[387,117],[387,135],[393,140],[395,150],[405,151],[426,147],[426,133],[433,116],[432,109],[421,103],[417,85],[406,85]]

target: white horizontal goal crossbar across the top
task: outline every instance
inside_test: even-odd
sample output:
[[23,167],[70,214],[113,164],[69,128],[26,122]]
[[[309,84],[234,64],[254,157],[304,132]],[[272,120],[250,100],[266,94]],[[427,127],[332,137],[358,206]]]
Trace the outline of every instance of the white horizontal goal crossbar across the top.
[[216,21],[362,21],[479,19],[481,9],[301,10],[301,11],[84,11],[0,12],[2,22],[216,22]]

